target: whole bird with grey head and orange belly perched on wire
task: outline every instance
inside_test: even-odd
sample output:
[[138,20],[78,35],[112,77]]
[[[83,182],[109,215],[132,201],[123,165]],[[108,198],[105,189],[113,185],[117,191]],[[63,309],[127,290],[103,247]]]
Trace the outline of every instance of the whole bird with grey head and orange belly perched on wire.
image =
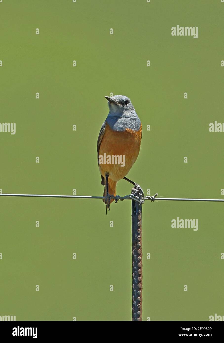
[[[118,200],[116,185],[119,180],[125,179],[134,185],[135,194],[139,191],[140,201],[144,198],[144,193],[139,184],[126,177],[139,155],[142,123],[127,96],[114,95],[105,96],[105,98],[108,102],[109,113],[99,131],[97,159],[101,184],[104,186],[103,201],[106,204],[107,214],[110,203]],[[114,159],[113,156],[115,156]]]

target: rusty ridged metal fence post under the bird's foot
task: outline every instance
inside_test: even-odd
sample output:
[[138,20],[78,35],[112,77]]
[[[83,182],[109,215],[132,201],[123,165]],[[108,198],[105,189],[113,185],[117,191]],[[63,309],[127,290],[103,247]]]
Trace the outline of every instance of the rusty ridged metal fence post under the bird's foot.
[[[134,194],[135,189],[132,189]],[[139,196],[139,194],[137,194]],[[142,205],[131,202],[132,220],[132,320],[142,320]]]

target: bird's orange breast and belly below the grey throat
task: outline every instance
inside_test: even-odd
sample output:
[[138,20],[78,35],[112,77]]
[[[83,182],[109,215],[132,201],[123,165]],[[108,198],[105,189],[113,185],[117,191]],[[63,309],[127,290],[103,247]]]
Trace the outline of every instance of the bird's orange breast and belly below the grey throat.
[[142,125],[139,131],[126,129],[126,131],[120,132],[111,130],[109,125],[106,124],[99,155],[104,156],[106,154],[106,156],[111,156],[111,159],[115,155],[125,156],[125,163],[123,163],[125,165],[121,166],[121,163],[99,164],[99,171],[103,176],[109,173],[111,180],[119,181],[128,174],[139,154],[141,134]]

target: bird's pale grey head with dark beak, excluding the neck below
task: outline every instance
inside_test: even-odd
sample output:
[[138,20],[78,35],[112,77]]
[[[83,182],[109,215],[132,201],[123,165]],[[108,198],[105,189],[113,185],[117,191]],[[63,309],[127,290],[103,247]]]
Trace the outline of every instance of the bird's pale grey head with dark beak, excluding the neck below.
[[105,96],[105,98],[108,101],[110,113],[114,116],[120,117],[122,114],[135,111],[131,100],[125,95]]

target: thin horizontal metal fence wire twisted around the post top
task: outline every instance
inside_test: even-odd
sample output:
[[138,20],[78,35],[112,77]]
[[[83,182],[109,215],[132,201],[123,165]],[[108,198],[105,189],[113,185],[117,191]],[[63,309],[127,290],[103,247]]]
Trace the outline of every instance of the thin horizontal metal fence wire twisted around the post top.
[[[158,193],[154,196],[146,196],[144,197],[145,200],[155,201],[155,200],[168,200],[168,201],[214,201],[214,202],[224,202],[224,199],[195,199],[195,198],[157,198]],[[97,197],[97,196],[83,196],[83,195],[54,195],[54,194],[8,194],[8,193],[0,193],[0,197],[34,197],[34,198],[74,198],[74,199],[105,199],[105,197]],[[139,202],[139,198],[137,196],[133,196],[133,194],[126,195],[124,197],[120,197],[119,195],[114,198],[117,202],[118,200],[136,200]]]

